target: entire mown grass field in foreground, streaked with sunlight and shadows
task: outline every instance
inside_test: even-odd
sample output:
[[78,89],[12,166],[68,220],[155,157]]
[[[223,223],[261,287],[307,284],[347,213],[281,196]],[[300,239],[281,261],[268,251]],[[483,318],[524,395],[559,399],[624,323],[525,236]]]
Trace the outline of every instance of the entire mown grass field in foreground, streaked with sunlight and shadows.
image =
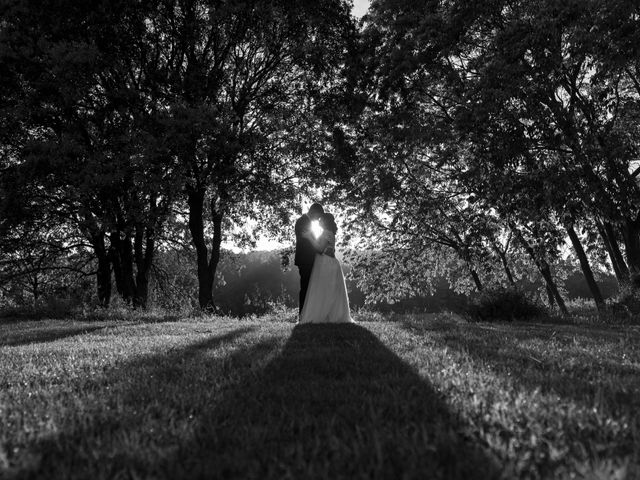
[[640,478],[640,329],[0,325],[0,478]]

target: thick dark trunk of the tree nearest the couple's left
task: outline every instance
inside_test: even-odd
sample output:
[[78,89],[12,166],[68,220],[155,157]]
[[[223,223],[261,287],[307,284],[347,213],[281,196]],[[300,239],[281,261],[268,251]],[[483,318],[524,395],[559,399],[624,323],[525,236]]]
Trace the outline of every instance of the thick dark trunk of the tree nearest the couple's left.
[[[210,269],[209,252],[204,237],[204,197],[203,189],[189,189],[187,203],[189,204],[189,231],[191,241],[196,249],[198,264],[198,303],[205,311],[214,310],[213,280],[214,272]],[[215,236],[215,235],[214,235]],[[220,255],[218,245],[218,258]],[[212,255],[213,260],[214,255]],[[217,267],[217,261],[216,265]]]

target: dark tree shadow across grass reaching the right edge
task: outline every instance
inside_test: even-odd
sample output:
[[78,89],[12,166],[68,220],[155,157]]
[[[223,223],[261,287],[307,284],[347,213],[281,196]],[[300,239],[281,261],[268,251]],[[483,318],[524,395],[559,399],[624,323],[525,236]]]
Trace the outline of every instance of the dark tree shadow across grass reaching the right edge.
[[[403,326],[431,335],[530,390],[555,393],[588,406],[597,398],[601,407],[618,414],[624,412],[617,409],[629,412],[640,407],[640,370],[606,358],[602,352],[609,344],[609,356],[625,348],[635,348],[638,355],[637,334],[624,340],[630,342],[629,347],[621,343],[623,332],[599,326],[422,323],[415,319],[406,320]],[[576,348],[576,342],[584,348]]]

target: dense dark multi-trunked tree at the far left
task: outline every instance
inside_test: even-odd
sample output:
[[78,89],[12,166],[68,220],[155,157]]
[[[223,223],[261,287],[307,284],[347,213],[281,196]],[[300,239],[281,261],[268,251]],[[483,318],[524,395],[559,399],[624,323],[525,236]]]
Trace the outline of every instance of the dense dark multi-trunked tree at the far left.
[[41,212],[90,241],[100,303],[109,303],[113,265],[120,294],[144,306],[174,191],[152,97],[137,88],[140,68],[130,61],[144,18],[129,2],[66,6],[6,6],[7,168],[18,185],[32,185]]

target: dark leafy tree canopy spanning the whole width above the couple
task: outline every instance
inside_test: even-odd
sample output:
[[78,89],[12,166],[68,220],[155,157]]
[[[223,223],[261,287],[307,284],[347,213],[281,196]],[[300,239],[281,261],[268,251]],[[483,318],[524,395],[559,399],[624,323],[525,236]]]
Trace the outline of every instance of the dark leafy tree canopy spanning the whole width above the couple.
[[186,248],[212,309],[223,240],[320,187],[378,299],[640,283],[636,2],[63,3],[0,7],[5,281],[28,251],[145,306]]

